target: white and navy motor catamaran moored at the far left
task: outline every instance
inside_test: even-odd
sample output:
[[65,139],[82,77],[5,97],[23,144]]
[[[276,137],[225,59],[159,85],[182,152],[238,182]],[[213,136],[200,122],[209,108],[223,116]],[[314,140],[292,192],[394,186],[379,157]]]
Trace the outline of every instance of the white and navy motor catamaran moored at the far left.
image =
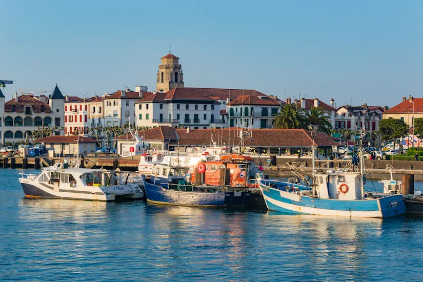
[[26,197],[113,201],[142,199],[144,192],[128,183],[129,171],[86,169],[57,163],[41,173],[20,173]]

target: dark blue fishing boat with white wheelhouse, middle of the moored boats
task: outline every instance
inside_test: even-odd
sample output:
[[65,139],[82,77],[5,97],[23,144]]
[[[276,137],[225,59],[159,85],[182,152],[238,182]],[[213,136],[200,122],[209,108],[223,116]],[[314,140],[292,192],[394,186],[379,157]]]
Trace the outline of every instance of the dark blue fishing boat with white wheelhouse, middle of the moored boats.
[[[225,166],[225,165],[224,165]],[[230,172],[230,169],[219,168]],[[156,164],[150,178],[143,176],[147,201],[154,204],[195,207],[240,207],[248,204],[250,193],[245,186],[229,186],[230,177],[223,173],[221,183],[202,182],[205,173],[196,172],[191,183],[189,166]]]

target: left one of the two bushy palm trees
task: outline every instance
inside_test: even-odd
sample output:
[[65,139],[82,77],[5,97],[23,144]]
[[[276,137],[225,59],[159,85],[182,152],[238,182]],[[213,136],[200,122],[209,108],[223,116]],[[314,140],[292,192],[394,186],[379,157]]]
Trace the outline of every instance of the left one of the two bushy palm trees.
[[273,119],[274,128],[304,128],[305,118],[304,115],[298,110],[296,104],[285,104],[280,106],[280,111]]

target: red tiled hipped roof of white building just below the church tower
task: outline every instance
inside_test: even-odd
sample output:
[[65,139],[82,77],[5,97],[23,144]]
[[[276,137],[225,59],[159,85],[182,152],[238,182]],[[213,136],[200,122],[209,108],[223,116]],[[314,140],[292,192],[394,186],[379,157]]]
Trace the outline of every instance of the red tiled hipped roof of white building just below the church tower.
[[[188,89],[188,91],[186,90]],[[174,100],[201,100],[219,104],[215,99],[203,95],[200,91],[196,91],[197,88],[173,88],[165,93],[156,93],[137,100],[136,102],[165,102]]]

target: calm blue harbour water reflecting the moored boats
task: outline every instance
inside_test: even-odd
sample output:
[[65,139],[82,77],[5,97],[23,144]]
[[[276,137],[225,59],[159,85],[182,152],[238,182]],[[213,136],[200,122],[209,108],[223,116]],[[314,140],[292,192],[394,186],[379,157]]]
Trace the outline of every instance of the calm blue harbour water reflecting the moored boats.
[[420,219],[25,199],[18,172],[0,170],[2,281],[422,279]]

